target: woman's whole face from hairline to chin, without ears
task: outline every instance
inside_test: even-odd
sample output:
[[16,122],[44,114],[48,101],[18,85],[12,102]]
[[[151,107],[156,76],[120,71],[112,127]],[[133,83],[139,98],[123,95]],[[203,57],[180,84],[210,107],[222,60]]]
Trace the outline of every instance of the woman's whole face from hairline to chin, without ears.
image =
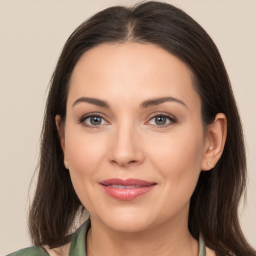
[[126,42],[86,51],[61,141],[92,221],[120,231],[186,223],[206,145],[191,72],[164,49]]

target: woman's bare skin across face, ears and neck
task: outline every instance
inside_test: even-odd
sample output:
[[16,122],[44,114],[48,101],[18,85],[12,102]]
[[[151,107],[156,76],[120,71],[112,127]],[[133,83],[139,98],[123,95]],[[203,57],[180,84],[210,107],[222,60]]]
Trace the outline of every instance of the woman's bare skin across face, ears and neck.
[[[76,63],[65,123],[57,115],[56,125],[65,166],[90,213],[86,255],[198,255],[187,228],[189,199],[200,171],[210,169],[207,161],[214,166],[222,153],[226,118],[217,114],[205,135],[192,80],[182,61],[152,44],[101,44]],[[141,107],[161,97],[177,100]],[[100,115],[100,124],[88,114]],[[162,114],[166,123],[157,125]],[[114,177],[156,185],[118,200],[99,185]]]

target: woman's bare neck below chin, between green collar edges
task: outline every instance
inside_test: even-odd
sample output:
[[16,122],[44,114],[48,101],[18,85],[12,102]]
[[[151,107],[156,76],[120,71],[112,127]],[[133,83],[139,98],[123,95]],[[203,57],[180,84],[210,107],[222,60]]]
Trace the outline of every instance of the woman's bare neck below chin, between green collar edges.
[[137,232],[121,232],[104,226],[102,222],[91,219],[91,228],[86,237],[88,256],[197,256],[198,241],[187,228],[172,221]]

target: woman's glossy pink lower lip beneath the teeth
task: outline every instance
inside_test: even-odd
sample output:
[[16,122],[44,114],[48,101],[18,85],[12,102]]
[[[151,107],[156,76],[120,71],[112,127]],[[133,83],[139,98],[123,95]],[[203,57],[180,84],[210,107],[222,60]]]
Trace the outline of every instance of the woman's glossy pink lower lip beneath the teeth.
[[100,184],[104,191],[111,197],[118,200],[132,200],[140,195],[148,193],[155,184],[136,188],[116,188]]

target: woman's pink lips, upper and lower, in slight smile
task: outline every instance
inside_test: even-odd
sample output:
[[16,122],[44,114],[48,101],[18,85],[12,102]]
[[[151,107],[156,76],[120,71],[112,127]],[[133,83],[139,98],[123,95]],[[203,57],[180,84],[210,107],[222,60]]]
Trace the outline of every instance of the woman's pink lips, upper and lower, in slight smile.
[[132,200],[149,192],[156,183],[136,178],[110,178],[100,181],[99,185],[106,194],[115,199]]

